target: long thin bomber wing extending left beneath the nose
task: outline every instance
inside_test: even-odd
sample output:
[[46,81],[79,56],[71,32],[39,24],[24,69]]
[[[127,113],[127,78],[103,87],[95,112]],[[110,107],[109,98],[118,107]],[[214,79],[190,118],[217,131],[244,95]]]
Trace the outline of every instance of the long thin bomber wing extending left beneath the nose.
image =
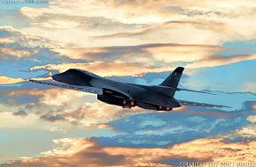
[[95,88],[95,87],[90,87],[90,86],[78,86],[78,85],[72,85],[72,84],[57,83],[55,81],[38,81],[38,80],[34,80],[34,79],[30,79],[29,81],[33,82],[33,83],[47,84],[47,85],[65,88],[65,89],[69,89],[69,90],[85,91],[88,93],[94,93],[94,94],[98,94],[98,95],[103,94],[103,91],[101,88]]

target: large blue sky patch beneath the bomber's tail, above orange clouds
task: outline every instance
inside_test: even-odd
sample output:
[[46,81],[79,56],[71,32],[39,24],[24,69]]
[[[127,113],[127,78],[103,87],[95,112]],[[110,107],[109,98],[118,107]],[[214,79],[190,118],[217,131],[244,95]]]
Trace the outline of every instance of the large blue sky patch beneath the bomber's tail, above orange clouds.
[[[243,110],[230,112],[184,106],[172,113],[129,115],[109,122],[114,130],[124,134],[93,137],[93,139],[102,145],[151,148],[222,134],[230,134],[230,137],[227,137],[230,139],[237,138],[239,134],[233,134],[237,129],[243,127],[252,129],[252,119],[249,118],[255,114],[253,104],[254,102],[246,102]],[[239,141],[247,138],[243,136],[240,136]]]

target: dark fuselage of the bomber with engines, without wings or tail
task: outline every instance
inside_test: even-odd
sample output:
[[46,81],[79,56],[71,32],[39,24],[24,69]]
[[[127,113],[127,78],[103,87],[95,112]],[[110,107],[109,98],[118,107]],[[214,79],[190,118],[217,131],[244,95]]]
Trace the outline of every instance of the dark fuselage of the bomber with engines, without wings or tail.
[[69,69],[52,78],[64,84],[102,88],[103,94],[97,95],[97,98],[110,105],[129,108],[137,105],[141,108],[167,111],[180,106],[171,97],[171,90],[168,93],[151,86],[119,83],[80,69]]

